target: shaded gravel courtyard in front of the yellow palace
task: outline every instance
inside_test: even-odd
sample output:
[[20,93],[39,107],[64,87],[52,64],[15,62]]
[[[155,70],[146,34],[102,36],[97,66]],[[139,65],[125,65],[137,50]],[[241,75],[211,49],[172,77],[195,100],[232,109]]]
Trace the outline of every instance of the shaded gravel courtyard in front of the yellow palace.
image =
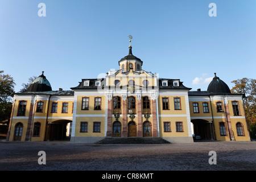
[[[39,151],[46,164],[39,165]],[[210,165],[209,151],[217,164]],[[256,170],[256,141],[171,144],[0,142],[1,171]]]

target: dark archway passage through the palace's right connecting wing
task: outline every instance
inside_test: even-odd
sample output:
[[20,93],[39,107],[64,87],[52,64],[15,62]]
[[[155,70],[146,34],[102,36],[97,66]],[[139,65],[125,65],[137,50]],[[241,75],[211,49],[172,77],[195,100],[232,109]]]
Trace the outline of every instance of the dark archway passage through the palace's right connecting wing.
[[212,122],[204,119],[193,119],[194,134],[200,135],[203,140],[213,140]]

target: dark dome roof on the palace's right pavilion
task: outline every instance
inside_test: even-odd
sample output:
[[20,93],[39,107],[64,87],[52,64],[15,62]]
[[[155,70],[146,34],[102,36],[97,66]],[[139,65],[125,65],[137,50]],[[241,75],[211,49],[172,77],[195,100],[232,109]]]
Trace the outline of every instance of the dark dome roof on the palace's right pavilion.
[[231,93],[229,86],[222,81],[219,77],[216,76],[216,73],[214,73],[214,77],[210,84],[208,85],[207,91],[209,92],[218,92],[218,93]]

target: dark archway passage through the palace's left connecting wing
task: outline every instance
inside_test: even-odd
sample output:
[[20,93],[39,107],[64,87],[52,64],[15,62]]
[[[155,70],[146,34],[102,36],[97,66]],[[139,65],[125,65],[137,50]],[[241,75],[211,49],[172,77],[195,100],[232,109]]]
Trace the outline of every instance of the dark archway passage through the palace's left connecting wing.
[[67,124],[72,121],[61,120],[47,123],[45,140],[65,140],[67,137]]

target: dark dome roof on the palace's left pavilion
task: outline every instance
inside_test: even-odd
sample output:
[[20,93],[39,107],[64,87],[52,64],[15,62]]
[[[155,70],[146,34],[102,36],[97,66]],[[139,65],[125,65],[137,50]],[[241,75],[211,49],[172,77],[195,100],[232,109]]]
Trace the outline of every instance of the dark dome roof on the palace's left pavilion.
[[47,92],[51,90],[51,84],[46,79],[46,76],[44,76],[44,72],[42,72],[42,75],[31,82],[30,86],[28,86],[27,92]]

